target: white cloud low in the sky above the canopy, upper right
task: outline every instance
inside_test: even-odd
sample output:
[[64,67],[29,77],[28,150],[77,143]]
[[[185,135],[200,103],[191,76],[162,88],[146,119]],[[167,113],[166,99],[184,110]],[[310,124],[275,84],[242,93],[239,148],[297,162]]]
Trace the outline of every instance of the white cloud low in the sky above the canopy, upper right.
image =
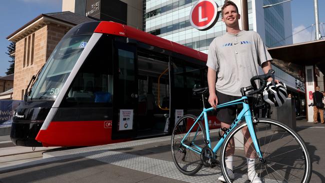
[[292,31],[293,43],[306,42],[315,39],[314,27],[313,32],[311,32],[311,27],[307,28],[304,25],[299,25],[293,28]]

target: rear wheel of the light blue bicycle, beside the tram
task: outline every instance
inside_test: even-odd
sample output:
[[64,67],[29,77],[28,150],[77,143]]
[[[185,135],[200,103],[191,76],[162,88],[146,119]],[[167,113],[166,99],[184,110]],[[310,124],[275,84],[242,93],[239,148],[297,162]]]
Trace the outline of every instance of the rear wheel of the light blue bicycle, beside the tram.
[[[197,121],[183,143],[181,143],[181,140],[189,131],[195,120],[196,116],[191,114],[182,116],[176,122],[171,135],[172,159],[177,169],[186,175],[195,174],[203,165],[201,163],[200,152],[205,146],[204,140],[206,137],[204,126],[201,121]],[[187,145],[187,147],[185,145]],[[188,146],[192,149],[188,148]]]

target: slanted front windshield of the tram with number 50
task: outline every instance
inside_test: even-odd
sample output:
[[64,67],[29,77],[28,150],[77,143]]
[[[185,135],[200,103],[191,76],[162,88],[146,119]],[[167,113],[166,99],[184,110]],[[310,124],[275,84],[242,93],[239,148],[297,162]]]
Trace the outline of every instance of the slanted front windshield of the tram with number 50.
[[63,37],[31,88],[28,100],[54,100],[86,46],[91,34]]

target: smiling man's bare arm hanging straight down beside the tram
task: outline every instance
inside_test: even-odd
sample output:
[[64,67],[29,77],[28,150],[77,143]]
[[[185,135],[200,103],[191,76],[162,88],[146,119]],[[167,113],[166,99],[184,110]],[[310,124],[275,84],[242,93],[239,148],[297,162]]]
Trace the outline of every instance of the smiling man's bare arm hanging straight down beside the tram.
[[215,94],[215,79],[216,79],[216,71],[210,67],[207,67],[207,84],[209,86],[209,98],[208,102],[210,105],[215,108],[218,104],[218,98]]

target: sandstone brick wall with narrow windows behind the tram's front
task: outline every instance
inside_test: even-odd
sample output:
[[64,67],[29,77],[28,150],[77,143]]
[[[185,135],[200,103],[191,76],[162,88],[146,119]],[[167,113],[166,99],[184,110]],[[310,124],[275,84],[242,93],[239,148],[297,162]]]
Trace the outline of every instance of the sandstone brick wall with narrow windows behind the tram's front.
[[66,27],[49,23],[16,42],[13,99],[22,99],[22,90],[25,90],[32,75],[35,75],[46,62],[58,41],[67,31]]

